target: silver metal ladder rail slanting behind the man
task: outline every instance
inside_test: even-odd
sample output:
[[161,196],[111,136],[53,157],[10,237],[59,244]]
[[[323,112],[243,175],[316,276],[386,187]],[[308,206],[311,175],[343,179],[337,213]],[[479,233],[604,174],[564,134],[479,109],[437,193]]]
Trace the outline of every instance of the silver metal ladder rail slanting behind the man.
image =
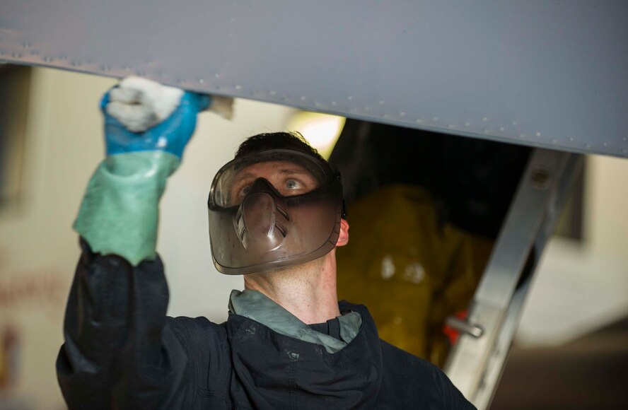
[[[467,321],[448,320],[463,334],[445,371],[479,410],[487,409],[492,400],[536,264],[582,162],[577,154],[541,148],[533,151]],[[531,269],[530,276],[521,281],[526,267]]]

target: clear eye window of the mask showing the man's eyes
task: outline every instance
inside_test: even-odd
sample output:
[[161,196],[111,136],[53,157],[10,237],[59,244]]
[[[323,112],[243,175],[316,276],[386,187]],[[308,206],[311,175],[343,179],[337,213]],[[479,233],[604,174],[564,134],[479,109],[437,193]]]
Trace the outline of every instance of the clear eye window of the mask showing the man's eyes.
[[306,194],[318,188],[318,180],[303,166],[289,161],[267,161],[243,168],[229,192],[230,205],[242,203],[257,178],[265,178],[284,197]]

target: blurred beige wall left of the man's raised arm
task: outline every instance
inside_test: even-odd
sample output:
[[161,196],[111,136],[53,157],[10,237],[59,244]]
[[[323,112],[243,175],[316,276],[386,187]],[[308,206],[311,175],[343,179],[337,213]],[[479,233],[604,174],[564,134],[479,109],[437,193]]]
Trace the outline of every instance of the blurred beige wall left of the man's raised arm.
[[21,341],[16,389],[4,399],[14,406],[55,409],[62,408],[62,399],[54,359],[78,256],[70,225],[90,170],[102,156],[95,106],[112,81],[43,69],[33,70],[32,81],[24,194],[0,219],[0,283],[14,295],[0,321],[16,327]]

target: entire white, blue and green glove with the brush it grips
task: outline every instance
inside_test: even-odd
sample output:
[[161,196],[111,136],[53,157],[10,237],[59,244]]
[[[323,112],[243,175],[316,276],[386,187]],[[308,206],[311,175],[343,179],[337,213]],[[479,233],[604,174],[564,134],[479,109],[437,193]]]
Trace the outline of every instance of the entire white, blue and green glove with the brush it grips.
[[105,94],[107,158],[87,187],[74,230],[95,253],[133,266],[156,257],[159,199],[181,163],[197,114],[228,117],[233,99],[126,78]]

